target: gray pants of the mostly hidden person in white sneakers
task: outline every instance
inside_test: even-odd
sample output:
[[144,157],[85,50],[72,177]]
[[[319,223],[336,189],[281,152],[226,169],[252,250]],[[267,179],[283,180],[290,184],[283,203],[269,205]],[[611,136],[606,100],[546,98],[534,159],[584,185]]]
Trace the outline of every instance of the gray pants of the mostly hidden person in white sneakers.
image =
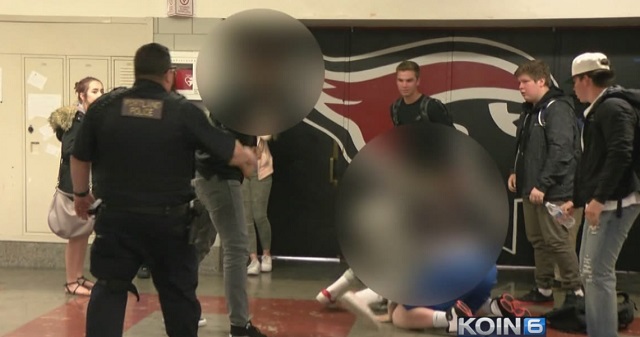
[[258,180],[257,174],[252,175],[249,179],[245,179],[242,183],[244,215],[249,232],[249,253],[251,254],[258,253],[256,229],[260,236],[262,249],[271,249],[271,223],[269,223],[269,218],[267,217],[271,183],[271,176]]

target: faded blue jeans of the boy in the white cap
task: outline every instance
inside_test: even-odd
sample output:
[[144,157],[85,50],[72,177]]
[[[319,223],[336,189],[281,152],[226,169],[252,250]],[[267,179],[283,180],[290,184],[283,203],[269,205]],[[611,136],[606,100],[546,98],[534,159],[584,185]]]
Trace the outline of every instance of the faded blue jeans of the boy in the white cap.
[[585,288],[587,334],[597,337],[618,336],[616,261],[627,234],[640,214],[640,205],[600,215],[600,227],[589,228],[585,220],[580,247],[580,274]]

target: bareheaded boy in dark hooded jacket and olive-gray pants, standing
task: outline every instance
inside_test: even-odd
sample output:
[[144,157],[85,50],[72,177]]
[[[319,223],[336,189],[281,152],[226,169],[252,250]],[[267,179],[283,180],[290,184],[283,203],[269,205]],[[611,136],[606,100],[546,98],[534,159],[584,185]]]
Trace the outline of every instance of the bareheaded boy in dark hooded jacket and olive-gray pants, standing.
[[[573,100],[552,86],[549,66],[540,60],[515,72],[525,103],[516,134],[514,171],[509,190],[522,197],[527,239],[535,258],[536,287],[519,298],[553,302],[554,265],[567,292],[565,303],[584,296],[575,251],[575,234],[554,222],[545,203],[562,205],[571,199],[574,171],[580,155],[580,128]],[[579,212],[575,213],[577,216]],[[581,219],[576,219],[580,223]],[[577,227],[577,226],[575,226]]]

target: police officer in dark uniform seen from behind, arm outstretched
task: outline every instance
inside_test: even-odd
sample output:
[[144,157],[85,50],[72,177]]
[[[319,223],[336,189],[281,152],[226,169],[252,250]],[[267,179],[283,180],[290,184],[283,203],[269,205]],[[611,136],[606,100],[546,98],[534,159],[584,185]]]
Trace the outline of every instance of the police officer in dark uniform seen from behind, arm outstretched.
[[[131,281],[143,262],[151,269],[170,337],[197,336],[198,261],[189,244],[189,201],[196,150],[255,170],[255,154],[212,126],[205,114],[172,93],[175,69],[157,43],[138,49],[135,83],[96,101],[73,151],[75,208],[86,218],[102,199],[91,273],[98,279],[87,310],[87,337],[120,337]],[[94,185],[89,189],[89,174]],[[94,198],[95,195],[95,198]]]

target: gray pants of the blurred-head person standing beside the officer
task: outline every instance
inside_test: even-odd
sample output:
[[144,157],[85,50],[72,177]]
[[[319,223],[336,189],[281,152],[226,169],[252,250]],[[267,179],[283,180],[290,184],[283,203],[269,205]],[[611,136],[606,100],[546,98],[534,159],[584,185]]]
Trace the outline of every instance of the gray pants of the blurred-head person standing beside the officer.
[[[231,325],[249,322],[247,297],[247,260],[249,259],[247,226],[244,223],[242,189],[237,180],[207,180],[196,173],[196,194],[209,212],[217,233],[224,264],[224,292]],[[208,231],[215,239],[215,231]],[[211,242],[211,238],[203,241]]]

